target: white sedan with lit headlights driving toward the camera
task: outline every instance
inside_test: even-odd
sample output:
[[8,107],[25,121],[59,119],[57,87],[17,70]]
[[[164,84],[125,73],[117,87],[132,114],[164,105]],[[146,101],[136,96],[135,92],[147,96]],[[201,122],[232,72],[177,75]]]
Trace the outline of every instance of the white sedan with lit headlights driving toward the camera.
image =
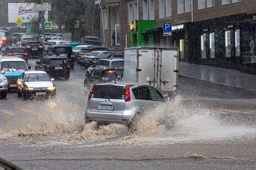
[[18,97],[55,97],[56,87],[54,78],[44,71],[24,71],[17,81]]

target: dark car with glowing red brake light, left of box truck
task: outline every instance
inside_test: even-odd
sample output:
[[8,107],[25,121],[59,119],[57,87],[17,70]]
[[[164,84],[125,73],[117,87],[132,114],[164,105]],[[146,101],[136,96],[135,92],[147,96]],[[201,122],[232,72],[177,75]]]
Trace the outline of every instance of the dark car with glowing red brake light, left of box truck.
[[95,67],[90,74],[88,72],[85,74],[84,88],[86,89],[95,83],[120,81],[121,73],[122,67]]

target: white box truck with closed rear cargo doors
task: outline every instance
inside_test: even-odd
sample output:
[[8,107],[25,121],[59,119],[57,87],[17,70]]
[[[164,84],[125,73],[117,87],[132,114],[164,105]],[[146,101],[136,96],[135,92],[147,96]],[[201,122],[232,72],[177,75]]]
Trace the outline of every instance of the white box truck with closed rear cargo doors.
[[125,48],[122,81],[154,85],[172,96],[178,92],[178,65],[178,48]]

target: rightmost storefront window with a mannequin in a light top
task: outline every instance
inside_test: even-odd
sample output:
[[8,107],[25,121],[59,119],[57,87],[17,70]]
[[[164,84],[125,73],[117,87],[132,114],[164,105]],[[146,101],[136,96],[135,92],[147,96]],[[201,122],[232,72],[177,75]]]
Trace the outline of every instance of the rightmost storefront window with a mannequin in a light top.
[[[242,63],[256,63],[255,56],[256,26],[242,27]],[[239,44],[240,45],[240,44]]]

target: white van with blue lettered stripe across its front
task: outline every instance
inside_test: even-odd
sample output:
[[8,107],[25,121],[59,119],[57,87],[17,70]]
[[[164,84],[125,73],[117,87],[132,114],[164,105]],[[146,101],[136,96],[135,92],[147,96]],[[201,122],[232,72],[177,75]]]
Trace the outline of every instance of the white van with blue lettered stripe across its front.
[[27,67],[25,60],[18,57],[1,57],[0,58],[0,71],[4,70],[3,74],[8,80],[9,89],[17,89],[17,81],[24,71],[29,71],[30,66]]

